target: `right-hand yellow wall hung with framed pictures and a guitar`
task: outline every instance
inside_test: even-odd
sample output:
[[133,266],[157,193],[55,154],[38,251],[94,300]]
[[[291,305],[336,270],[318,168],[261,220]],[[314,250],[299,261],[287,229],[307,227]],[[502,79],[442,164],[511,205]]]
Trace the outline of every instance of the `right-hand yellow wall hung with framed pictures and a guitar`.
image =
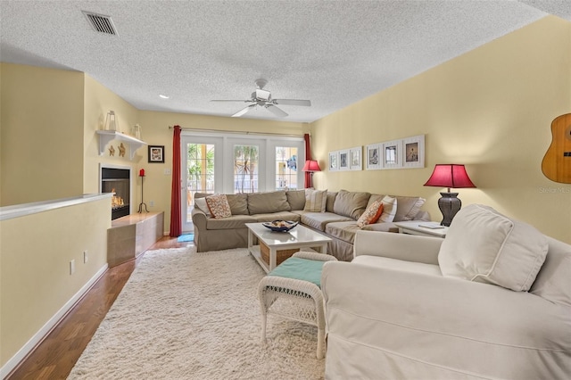
[[[571,112],[571,23],[549,16],[311,124],[330,190],[420,195],[434,220],[434,164],[463,163],[484,203],[571,243],[571,186],[542,175],[551,120]],[[426,135],[425,169],[327,172],[328,152]]]

